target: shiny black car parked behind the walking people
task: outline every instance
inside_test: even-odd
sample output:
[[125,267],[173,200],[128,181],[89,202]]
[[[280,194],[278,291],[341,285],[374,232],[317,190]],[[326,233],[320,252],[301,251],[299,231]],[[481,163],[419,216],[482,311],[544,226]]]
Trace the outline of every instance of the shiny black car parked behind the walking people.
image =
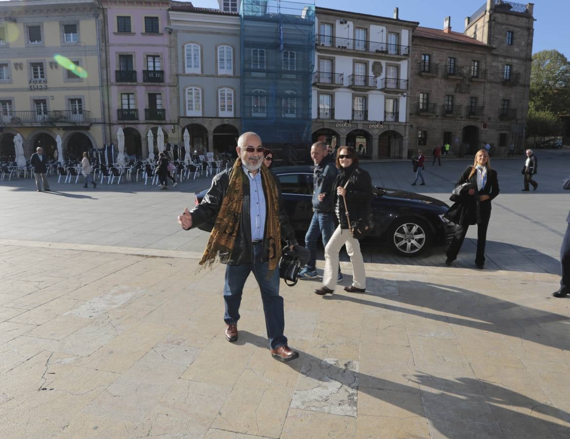
[[[299,235],[307,232],[311,218],[313,193],[312,166],[284,166],[272,170],[281,183],[284,208]],[[196,194],[196,204],[207,190]],[[374,230],[367,237],[385,241],[402,256],[420,255],[435,243],[447,243],[457,225],[443,214],[446,203],[429,196],[389,188],[374,188],[372,212]]]

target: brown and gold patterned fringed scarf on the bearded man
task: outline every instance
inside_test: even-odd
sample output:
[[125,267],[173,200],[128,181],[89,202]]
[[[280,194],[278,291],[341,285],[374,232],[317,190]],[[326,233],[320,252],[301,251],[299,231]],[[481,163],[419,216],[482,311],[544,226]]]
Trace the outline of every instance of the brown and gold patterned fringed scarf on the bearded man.
[[[264,164],[259,171],[261,173],[263,190],[267,195],[267,221],[264,239],[269,249],[268,277],[270,277],[273,270],[277,268],[281,257],[281,226],[277,210],[279,194],[271,171]],[[222,206],[219,209],[214,228],[210,233],[210,239],[200,260],[200,265],[211,266],[218,258],[222,262],[230,259],[241,222],[244,178],[247,177],[242,170],[241,158],[238,157],[231,170],[226,195],[223,197]]]

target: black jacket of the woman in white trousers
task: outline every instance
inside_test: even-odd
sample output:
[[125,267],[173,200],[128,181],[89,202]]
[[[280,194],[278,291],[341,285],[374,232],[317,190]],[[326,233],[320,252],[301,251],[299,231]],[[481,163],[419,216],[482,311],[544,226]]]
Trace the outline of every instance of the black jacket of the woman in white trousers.
[[351,217],[351,223],[366,218],[370,212],[370,202],[374,197],[372,180],[370,174],[358,166],[349,166],[341,168],[339,175],[336,176],[332,185],[333,200],[332,205],[337,215],[336,218],[340,222],[340,228],[348,229],[348,221],[345,215],[343,197],[339,196],[336,188],[347,184],[347,200],[348,214]]

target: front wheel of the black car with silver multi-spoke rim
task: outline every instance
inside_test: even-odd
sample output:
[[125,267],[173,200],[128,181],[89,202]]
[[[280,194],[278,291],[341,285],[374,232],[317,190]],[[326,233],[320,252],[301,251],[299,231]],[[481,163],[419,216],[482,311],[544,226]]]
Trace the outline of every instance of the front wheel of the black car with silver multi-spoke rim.
[[420,255],[430,247],[431,229],[425,221],[417,218],[401,219],[390,228],[388,242],[400,256]]

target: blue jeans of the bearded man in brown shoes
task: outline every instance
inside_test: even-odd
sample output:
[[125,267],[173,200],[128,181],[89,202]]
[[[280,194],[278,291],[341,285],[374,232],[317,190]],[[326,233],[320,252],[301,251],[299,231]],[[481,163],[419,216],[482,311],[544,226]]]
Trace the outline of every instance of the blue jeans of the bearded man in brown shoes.
[[287,344],[287,337],[283,335],[285,317],[283,312],[283,297],[279,296],[279,268],[276,268],[270,278],[269,263],[263,262],[263,243],[253,244],[253,263],[226,266],[226,282],[223,286],[223,300],[226,304],[226,313],[223,320],[227,325],[233,325],[239,320],[239,305],[242,301],[243,285],[251,272],[257,280],[261,299],[263,301],[263,313],[265,314],[265,326],[267,338],[271,349],[276,349]]

